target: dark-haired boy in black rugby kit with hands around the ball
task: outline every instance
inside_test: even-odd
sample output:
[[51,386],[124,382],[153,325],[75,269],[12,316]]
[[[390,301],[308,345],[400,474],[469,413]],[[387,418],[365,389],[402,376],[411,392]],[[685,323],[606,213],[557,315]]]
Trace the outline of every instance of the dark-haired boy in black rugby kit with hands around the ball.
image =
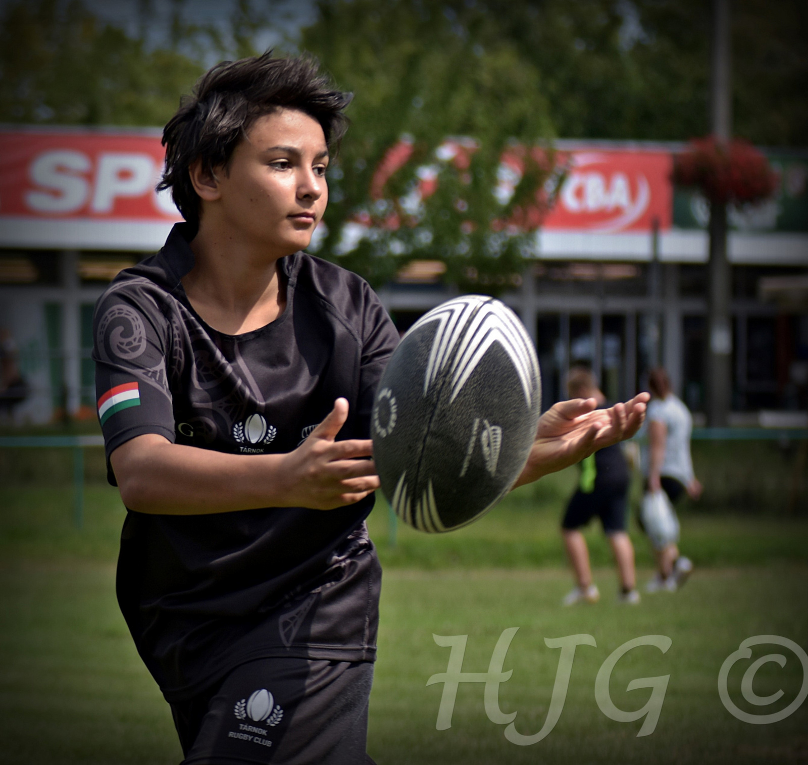
[[[118,599],[188,765],[369,761],[368,421],[398,332],[301,251],[349,99],[305,57],[213,67],[163,133],[186,222],[96,306]],[[632,435],[645,401],[553,407],[519,482]]]

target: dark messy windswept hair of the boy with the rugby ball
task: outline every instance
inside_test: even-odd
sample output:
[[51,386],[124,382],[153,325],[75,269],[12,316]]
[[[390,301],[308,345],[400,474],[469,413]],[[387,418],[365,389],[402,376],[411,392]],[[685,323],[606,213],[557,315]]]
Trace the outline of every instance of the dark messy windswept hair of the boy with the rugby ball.
[[226,167],[233,150],[260,116],[280,108],[298,109],[320,123],[329,147],[339,145],[347,130],[343,110],[352,95],[335,90],[320,74],[318,61],[303,55],[262,56],[222,61],[202,75],[193,95],[162,132],[166,167],[158,191],[170,188],[186,221],[199,223],[200,198],[188,170],[201,159],[203,169]]

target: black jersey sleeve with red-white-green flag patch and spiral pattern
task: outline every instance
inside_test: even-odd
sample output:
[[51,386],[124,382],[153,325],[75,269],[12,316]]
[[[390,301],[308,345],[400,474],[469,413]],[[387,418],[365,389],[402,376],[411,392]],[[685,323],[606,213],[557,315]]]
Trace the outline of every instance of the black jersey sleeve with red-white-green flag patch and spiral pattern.
[[175,423],[166,375],[170,328],[145,289],[113,285],[95,305],[93,360],[97,413],[109,456],[137,435],[155,433],[172,443]]

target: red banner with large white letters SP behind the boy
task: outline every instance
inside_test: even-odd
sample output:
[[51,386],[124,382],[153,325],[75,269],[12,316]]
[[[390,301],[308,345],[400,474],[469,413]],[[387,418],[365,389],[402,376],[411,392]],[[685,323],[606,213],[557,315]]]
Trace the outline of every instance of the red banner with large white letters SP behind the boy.
[[0,219],[179,221],[156,135],[0,132]]

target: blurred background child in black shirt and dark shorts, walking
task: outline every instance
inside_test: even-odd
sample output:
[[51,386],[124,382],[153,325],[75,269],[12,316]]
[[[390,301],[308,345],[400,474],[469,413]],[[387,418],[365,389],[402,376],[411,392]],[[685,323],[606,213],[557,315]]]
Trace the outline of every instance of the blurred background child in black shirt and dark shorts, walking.
[[[566,388],[570,398],[594,398],[598,406],[604,406],[606,402],[595,376],[586,367],[570,369]],[[592,582],[587,540],[581,533],[595,515],[600,519],[617,564],[621,586],[618,601],[640,602],[634,548],[626,533],[630,478],[629,465],[619,443],[602,448],[581,462],[578,489],[570,498],[561,524],[564,547],[576,582],[574,589],[564,598],[564,605],[596,603],[600,599],[600,591]]]

